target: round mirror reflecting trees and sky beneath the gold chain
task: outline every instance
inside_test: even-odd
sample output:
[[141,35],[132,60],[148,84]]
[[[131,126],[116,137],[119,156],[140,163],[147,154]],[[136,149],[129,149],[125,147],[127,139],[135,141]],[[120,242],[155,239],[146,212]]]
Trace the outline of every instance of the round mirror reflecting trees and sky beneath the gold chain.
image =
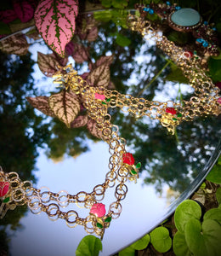
[[[24,1],[24,4],[29,2],[30,9],[39,10],[39,5],[47,1],[36,1],[34,5],[31,1]],[[20,3],[16,4],[24,9]],[[101,8],[101,5],[88,3],[86,8],[89,10],[82,10],[81,14],[83,4],[79,3],[81,15],[75,23],[76,33],[66,45],[62,58],[55,50],[49,49],[39,36],[33,26],[33,14],[27,21],[16,16],[16,4],[9,4],[2,10],[3,14],[6,9],[11,10],[8,15],[11,20],[8,18],[6,22],[4,18],[1,21],[5,30],[10,29],[11,33],[7,32],[8,36],[4,35],[1,39],[0,164],[3,172],[18,172],[22,181],[31,180],[35,188],[41,189],[42,203],[47,205],[51,200],[51,209],[45,207],[38,211],[39,207],[35,207],[39,200],[37,197],[29,202],[29,206],[32,204],[31,211],[26,204],[12,210],[13,207],[2,201],[0,212],[6,213],[0,223],[5,238],[2,240],[3,247],[6,251],[8,248],[12,256],[74,255],[87,233],[80,224],[70,228],[75,226],[74,212],[70,213],[69,226],[65,224],[66,215],[60,214],[57,219],[54,196],[58,193],[60,212],[76,211],[80,218],[87,218],[90,212],[89,207],[85,211],[81,204],[87,193],[86,197],[98,186],[97,195],[103,196],[101,184],[110,172],[110,143],[102,140],[98,125],[88,114],[89,107],[83,102],[83,95],[72,93],[62,84],[53,84],[53,75],[71,63],[82,80],[95,89],[99,88],[99,97],[104,96],[102,91],[105,88],[126,95],[131,105],[134,98],[160,102],[152,106],[149,116],[138,116],[133,114],[133,108],[129,112],[125,108],[112,108],[113,95],[111,103],[107,97],[96,98],[100,106],[108,107],[111,124],[114,125],[112,130],[119,127],[119,137],[126,139],[126,151],[134,158],[133,164],[126,163],[127,166],[135,166],[135,171],[127,167],[131,170],[131,180],[128,178],[127,183],[122,183],[123,189],[119,191],[116,187],[111,188],[110,181],[110,189],[105,191],[106,212],[119,195],[122,209],[112,209],[112,212],[119,214],[111,216],[110,226],[102,235],[103,250],[100,255],[117,253],[171,215],[178,203],[187,199],[200,185],[220,154],[221,119],[217,113],[196,114],[193,120],[179,122],[179,118],[183,119],[182,114],[178,116],[178,110],[169,104],[175,102],[182,107],[182,102],[195,96],[195,90],[190,87],[176,61],[156,47],[153,38],[143,38],[140,32],[129,29],[128,11],[107,9],[93,11],[93,15],[92,9]],[[169,40],[178,39],[174,45],[183,48],[190,43],[189,47],[193,49],[193,36],[189,32],[174,32],[164,22],[160,26],[159,15],[156,12],[151,14],[150,9],[154,10],[154,7],[150,7],[145,6],[146,10],[142,7],[141,15],[135,15],[140,18],[146,12],[144,19],[152,20],[157,31],[161,29],[159,35],[165,34]],[[157,5],[157,8],[160,6]],[[18,27],[22,27],[20,32]],[[184,40],[184,44],[180,40]],[[199,50],[201,65],[208,70],[199,45],[195,47]],[[188,48],[184,49],[184,53],[192,57]],[[195,57],[199,55],[195,54]],[[64,70],[59,73],[59,79],[61,74],[65,74]],[[63,79],[65,83],[65,76]],[[74,84],[73,80],[71,83]],[[201,95],[197,96],[200,98]],[[164,127],[168,126],[165,120],[162,122],[153,118],[155,108],[161,102],[169,102],[165,105],[166,110],[175,111],[167,113],[173,114],[173,131]],[[79,197],[77,206],[71,203],[67,206],[67,201],[71,200],[67,195]],[[98,203],[99,199],[96,200]],[[48,215],[52,221],[48,220]]]

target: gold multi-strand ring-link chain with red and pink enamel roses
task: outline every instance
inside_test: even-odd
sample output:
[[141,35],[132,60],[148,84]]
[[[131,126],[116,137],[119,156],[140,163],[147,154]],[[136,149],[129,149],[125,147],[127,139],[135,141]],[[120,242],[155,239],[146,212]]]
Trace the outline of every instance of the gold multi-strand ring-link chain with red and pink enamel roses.
[[[135,98],[122,95],[116,90],[89,87],[71,65],[64,67],[54,75],[55,83],[64,84],[65,89],[70,88],[74,93],[83,98],[84,107],[88,116],[96,121],[102,139],[109,144],[111,154],[109,172],[105,175],[105,182],[94,187],[87,193],[81,191],[77,195],[70,195],[65,190],[53,193],[49,190],[35,189],[31,182],[20,180],[16,172],[0,172],[0,187],[2,187],[2,205],[0,218],[3,218],[8,209],[27,204],[33,213],[46,212],[48,218],[56,220],[65,219],[70,227],[82,225],[88,233],[95,233],[101,238],[105,228],[110,225],[112,218],[118,218],[122,212],[121,201],[127,195],[127,180],[135,181],[139,177],[140,163],[134,165],[133,156],[127,153],[126,140],[118,135],[118,127],[111,124],[111,115],[108,108],[122,108],[123,111],[133,113],[137,118],[144,115],[150,119],[158,119],[168,131],[174,132],[175,127],[182,121],[191,121],[196,116],[220,113],[220,98],[218,88],[212,84],[195,57],[186,56],[184,49],[167,40],[160,32],[156,32],[150,22],[133,15],[128,16],[128,23],[133,31],[140,32],[145,38],[152,38],[156,45],[168,55],[171,60],[182,69],[184,76],[190,80],[190,86],[195,89],[195,96],[190,101],[179,103],[150,102],[144,98]],[[105,197],[105,190],[115,188],[115,201],[111,203],[107,213],[104,205],[99,203]],[[4,190],[3,190],[4,189]],[[62,208],[76,204],[78,207],[90,209],[88,217],[81,218],[77,211],[63,211]],[[103,207],[103,212],[94,212],[97,207]],[[93,209],[93,210],[92,210]]]

